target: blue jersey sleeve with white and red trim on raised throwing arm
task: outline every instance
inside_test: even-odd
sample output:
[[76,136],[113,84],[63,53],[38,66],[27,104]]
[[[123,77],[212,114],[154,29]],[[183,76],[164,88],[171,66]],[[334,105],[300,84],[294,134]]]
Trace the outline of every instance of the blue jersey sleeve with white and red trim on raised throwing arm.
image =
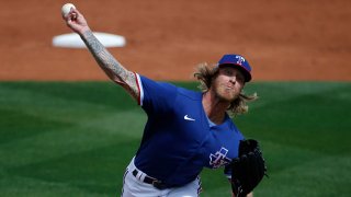
[[162,114],[169,111],[177,97],[177,86],[166,82],[157,82],[136,74],[139,89],[138,104],[147,114]]

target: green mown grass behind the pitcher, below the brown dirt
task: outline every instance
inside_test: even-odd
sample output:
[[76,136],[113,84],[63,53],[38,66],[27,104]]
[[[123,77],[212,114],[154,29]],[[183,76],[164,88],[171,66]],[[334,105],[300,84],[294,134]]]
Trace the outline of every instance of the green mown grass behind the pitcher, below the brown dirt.
[[[195,89],[194,83],[179,83]],[[235,118],[261,142],[270,178],[256,196],[349,196],[351,83],[257,82]],[[111,82],[0,82],[1,196],[118,196],[146,121]],[[230,196],[204,170],[202,196]]]

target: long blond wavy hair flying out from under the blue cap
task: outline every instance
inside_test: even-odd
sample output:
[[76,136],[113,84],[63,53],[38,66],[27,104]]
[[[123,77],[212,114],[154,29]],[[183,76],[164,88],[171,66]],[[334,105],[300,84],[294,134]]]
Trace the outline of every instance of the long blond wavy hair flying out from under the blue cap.
[[[199,88],[202,92],[208,91],[208,89],[212,85],[212,81],[217,77],[217,65],[208,65],[204,62],[197,66],[197,69],[194,72],[194,78],[196,78],[200,81]],[[244,92],[241,92],[239,96],[236,100],[234,100],[228,106],[228,114],[230,116],[236,116],[247,113],[249,111],[249,106],[247,105],[247,103],[252,102],[257,99],[257,93],[253,93],[252,95],[246,95]]]

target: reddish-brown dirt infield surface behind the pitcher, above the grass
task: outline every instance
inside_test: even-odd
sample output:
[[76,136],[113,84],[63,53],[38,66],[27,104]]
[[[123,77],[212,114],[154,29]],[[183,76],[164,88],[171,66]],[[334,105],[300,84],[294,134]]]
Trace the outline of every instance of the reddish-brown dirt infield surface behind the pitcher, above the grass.
[[[200,62],[244,55],[253,81],[351,81],[350,0],[73,0],[90,27],[126,37],[110,51],[157,80],[191,80]],[[52,46],[70,33],[66,1],[0,2],[0,80],[106,80],[87,49]]]

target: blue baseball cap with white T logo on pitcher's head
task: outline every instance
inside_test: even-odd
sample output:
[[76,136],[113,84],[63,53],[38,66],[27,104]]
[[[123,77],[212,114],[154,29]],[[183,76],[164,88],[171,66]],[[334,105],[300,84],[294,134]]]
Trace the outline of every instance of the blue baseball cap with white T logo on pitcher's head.
[[226,54],[218,61],[218,67],[229,65],[239,68],[245,77],[245,82],[249,82],[251,80],[251,67],[249,62],[240,55],[235,54]]

